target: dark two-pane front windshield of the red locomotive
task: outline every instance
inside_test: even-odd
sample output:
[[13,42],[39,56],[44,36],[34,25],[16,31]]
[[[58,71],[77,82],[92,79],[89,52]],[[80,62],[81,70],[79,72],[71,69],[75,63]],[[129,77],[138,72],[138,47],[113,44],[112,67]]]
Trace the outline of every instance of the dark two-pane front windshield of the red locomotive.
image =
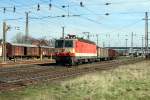
[[55,47],[56,48],[62,48],[62,47],[71,48],[73,47],[73,40],[56,40]]

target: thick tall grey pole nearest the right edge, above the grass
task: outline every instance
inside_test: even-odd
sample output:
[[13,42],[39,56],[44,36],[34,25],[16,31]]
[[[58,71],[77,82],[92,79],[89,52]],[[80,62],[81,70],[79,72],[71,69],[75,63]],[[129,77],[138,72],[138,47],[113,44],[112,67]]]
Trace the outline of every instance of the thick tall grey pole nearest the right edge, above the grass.
[[148,58],[148,12],[145,12],[145,58]]

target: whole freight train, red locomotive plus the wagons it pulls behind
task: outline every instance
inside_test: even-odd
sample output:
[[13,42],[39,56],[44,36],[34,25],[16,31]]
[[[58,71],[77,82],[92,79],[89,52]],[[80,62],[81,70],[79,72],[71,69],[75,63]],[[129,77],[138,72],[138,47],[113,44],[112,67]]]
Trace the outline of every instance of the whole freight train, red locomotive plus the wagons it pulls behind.
[[69,35],[55,42],[57,63],[76,65],[79,63],[111,60],[118,56],[115,50],[98,47],[94,42]]

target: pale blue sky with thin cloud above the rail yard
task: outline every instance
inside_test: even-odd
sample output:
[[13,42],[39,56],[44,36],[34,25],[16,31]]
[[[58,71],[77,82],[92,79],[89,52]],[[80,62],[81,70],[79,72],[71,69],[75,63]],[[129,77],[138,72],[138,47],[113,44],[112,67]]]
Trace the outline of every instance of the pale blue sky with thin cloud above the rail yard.
[[[51,9],[49,4],[52,4]],[[66,7],[62,8],[63,5]],[[11,27],[7,32],[8,42],[13,41],[17,33],[24,35],[25,12],[29,12],[29,35],[35,38],[60,38],[64,26],[65,35],[87,38],[83,33],[89,32],[90,40],[96,42],[98,34],[99,46],[105,47],[126,46],[125,39],[131,46],[133,32],[134,46],[142,46],[145,34],[145,21],[142,19],[145,12],[150,12],[149,5],[150,0],[0,0],[0,38],[4,20]],[[13,12],[14,6],[16,12]],[[62,15],[66,17],[60,17]]]

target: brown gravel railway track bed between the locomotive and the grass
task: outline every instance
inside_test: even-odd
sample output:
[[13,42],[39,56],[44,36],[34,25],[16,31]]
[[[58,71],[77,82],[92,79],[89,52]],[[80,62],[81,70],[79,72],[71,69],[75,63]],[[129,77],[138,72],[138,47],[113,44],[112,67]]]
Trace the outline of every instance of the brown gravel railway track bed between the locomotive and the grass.
[[106,61],[95,64],[80,65],[79,67],[74,66],[72,68],[51,68],[50,66],[44,67],[43,69],[34,69],[31,67],[30,71],[22,71],[21,69],[12,72],[3,71],[2,73],[0,72],[0,91],[14,90],[43,81],[73,77],[94,71],[108,70],[116,68],[119,65],[135,63],[137,61],[139,60]]

